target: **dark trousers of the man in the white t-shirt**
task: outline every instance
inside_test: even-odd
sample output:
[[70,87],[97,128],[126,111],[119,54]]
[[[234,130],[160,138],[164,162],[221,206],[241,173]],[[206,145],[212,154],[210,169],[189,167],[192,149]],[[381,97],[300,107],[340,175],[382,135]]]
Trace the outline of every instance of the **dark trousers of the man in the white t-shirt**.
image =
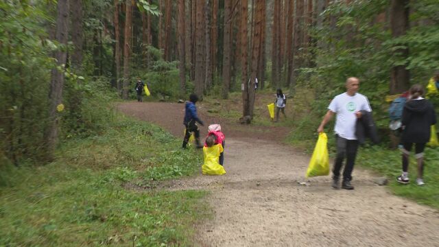
[[355,156],[357,156],[358,141],[348,140],[338,135],[335,135],[337,139],[337,156],[335,157],[335,163],[333,168],[333,176],[335,179],[340,177],[340,170],[342,169],[344,157],[346,157],[346,165],[343,170],[343,180],[352,180],[352,171],[355,164]]

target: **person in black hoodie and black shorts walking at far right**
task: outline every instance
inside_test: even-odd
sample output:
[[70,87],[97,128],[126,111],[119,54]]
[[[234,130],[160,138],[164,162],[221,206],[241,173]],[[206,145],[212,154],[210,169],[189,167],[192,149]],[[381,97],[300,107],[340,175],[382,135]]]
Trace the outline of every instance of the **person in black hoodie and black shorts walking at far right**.
[[396,178],[399,183],[403,184],[409,183],[409,156],[414,144],[416,163],[418,163],[416,183],[420,186],[424,185],[424,148],[425,143],[430,139],[430,127],[436,124],[436,114],[434,113],[433,105],[423,95],[423,86],[420,84],[413,85],[410,88],[410,100],[404,105],[403,117],[401,119],[403,126],[401,137],[401,142],[403,143],[403,174]]

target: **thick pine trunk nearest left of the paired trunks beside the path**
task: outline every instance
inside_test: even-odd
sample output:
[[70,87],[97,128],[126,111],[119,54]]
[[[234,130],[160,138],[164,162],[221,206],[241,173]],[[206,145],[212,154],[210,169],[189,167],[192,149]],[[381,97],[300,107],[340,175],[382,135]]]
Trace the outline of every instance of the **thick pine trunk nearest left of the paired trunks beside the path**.
[[232,19],[231,13],[231,1],[224,1],[224,52],[222,59],[222,98],[228,98],[228,89],[230,86],[230,28]]

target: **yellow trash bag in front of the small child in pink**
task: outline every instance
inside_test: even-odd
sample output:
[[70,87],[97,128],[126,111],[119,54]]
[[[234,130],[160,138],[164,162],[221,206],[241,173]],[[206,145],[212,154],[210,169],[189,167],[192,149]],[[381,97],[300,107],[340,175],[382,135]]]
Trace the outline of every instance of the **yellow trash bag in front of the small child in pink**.
[[202,165],[202,173],[204,175],[222,175],[226,170],[219,165],[219,153],[223,152],[221,144],[209,147],[203,147],[204,164]]

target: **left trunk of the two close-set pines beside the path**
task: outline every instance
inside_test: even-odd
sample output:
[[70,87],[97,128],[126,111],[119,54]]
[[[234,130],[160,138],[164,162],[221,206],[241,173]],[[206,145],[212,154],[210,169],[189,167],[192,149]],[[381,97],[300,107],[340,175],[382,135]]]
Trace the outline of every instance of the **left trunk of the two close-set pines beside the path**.
[[239,24],[241,45],[241,91],[242,91],[242,116],[250,115],[250,104],[248,102],[248,37],[247,37],[247,23],[248,23],[248,0],[241,0],[240,6],[241,23]]

